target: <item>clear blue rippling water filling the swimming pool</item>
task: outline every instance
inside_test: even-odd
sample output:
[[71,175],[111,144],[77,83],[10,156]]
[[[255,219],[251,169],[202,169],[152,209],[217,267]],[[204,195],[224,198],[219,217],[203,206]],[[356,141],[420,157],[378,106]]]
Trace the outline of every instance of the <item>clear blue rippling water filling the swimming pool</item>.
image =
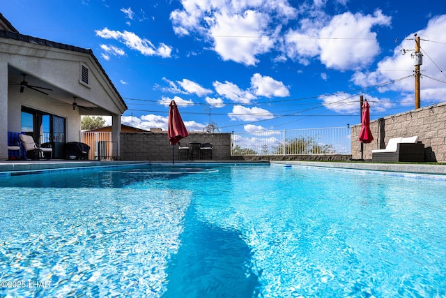
[[279,165],[0,178],[0,297],[445,297],[445,179]]

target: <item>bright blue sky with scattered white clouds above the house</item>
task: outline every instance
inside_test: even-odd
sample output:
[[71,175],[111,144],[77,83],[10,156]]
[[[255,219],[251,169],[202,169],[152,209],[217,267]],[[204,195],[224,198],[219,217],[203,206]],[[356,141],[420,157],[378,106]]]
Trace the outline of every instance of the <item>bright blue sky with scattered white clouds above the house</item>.
[[[445,101],[446,1],[13,0],[20,33],[91,48],[129,110],[123,124],[167,129],[176,100],[189,131],[324,128]],[[405,53],[405,54],[403,54]]]

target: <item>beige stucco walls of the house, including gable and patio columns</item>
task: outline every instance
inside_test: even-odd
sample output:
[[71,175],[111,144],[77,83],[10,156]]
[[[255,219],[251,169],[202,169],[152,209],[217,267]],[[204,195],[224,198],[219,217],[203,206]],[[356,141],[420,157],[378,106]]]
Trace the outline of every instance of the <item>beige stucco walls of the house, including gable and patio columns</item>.
[[[49,42],[51,43],[51,42]],[[81,66],[89,68],[89,84],[79,82]],[[32,89],[20,93],[20,73],[53,89],[49,95]],[[27,79],[29,81],[29,79]],[[93,111],[64,104],[73,96],[98,106]],[[90,50],[66,50],[14,38],[0,38],[0,160],[8,158],[7,132],[21,131],[22,106],[66,119],[66,141],[79,142],[81,113],[112,116],[113,134],[119,144],[121,114],[127,109]],[[115,127],[116,126],[116,127]],[[119,148],[116,147],[116,154]]]

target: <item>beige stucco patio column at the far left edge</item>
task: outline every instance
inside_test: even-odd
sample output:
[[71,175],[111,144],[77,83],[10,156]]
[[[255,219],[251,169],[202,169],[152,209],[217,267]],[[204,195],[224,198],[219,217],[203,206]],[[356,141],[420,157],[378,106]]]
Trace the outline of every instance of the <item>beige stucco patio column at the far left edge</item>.
[[8,64],[0,59],[0,161],[8,159]]

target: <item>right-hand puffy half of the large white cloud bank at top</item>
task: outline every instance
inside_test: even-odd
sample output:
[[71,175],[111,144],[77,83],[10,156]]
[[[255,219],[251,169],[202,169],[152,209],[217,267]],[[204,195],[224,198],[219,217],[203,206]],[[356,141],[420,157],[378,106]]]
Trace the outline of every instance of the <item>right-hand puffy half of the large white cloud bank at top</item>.
[[300,29],[286,33],[286,53],[305,65],[318,57],[328,68],[360,69],[380,52],[372,27],[390,26],[390,20],[381,10],[374,15],[346,12],[325,22],[302,20]]

